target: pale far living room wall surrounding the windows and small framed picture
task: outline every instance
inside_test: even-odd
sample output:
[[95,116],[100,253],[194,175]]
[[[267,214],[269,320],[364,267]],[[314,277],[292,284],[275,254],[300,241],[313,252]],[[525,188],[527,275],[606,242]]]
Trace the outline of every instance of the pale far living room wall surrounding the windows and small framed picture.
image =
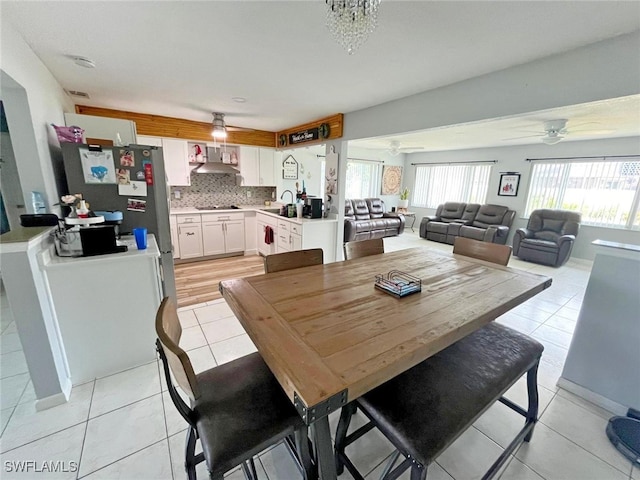
[[[448,152],[411,153],[406,158],[407,186],[413,189],[415,181],[415,166],[412,163],[421,162],[469,162],[474,160],[497,160],[491,168],[491,178],[486,203],[506,205],[516,211],[514,221],[507,244],[511,244],[513,232],[516,228],[525,227],[527,219],[524,218],[524,210],[527,201],[529,183],[531,180],[532,163],[527,162],[527,158],[562,158],[580,156],[607,156],[607,155],[640,155],[640,138],[625,137],[607,140],[589,141],[563,141],[556,145],[521,145],[511,147],[479,148],[471,150],[453,150]],[[501,197],[498,195],[498,184],[500,172],[519,172],[520,186],[516,197]],[[411,207],[416,211],[416,225],[424,215],[432,215],[434,210]],[[640,232],[590,227],[582,225],[580,233],[576,239],[573,257],[592,260],[595,257],[595,249],[591,242],[596,239],[611,240],[623,243],[640,245]]]

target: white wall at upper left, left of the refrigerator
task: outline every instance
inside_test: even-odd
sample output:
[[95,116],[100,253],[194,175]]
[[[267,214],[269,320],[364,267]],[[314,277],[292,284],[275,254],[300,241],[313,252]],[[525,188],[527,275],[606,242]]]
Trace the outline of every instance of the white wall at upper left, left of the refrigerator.
[[31,191],[44,194],[48,211],[59,213],[52,149],[58,141],[50,124],[64,125],[73,102],[15,29],[2,18],[0,97],[25,197],[31,212]]

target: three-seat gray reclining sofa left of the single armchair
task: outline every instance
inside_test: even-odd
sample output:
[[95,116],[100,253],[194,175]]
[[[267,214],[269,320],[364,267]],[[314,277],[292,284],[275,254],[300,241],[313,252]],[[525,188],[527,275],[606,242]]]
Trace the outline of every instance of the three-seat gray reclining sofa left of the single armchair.
[[504,245],[516,212],[504,205],[446,202],[422,218],[420,236],[453,245],[456,237]]

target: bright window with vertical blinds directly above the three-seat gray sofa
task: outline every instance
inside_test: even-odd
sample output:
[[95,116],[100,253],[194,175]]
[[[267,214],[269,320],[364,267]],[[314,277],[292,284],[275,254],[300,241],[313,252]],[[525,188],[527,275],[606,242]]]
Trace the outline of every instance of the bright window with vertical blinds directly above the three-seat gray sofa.
[[411,205],[437,208],[444,202],[485,203],[491,165],[416,165]]

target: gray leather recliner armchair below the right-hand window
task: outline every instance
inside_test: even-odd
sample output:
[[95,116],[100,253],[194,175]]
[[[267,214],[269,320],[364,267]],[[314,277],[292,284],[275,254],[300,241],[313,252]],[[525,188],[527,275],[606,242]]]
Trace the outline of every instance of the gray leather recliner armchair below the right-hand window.
[[522,260],[559,267],[571,256],[582,215],[569,210],[534,210],[527,228],[513,237],[513,255]]

